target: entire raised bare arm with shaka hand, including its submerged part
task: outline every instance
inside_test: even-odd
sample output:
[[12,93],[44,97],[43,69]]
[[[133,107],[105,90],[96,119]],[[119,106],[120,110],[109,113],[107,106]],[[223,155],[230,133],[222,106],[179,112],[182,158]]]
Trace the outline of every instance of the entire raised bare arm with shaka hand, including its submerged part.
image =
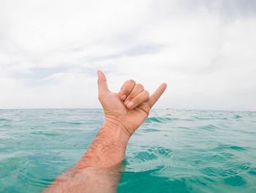
[[149,96],[140,83],[127,80],[119,93],[113,93],[108,89],[104,73],[98,70],[97,75],[98,98],[105,112],[105,122],[78,164],[59,175],[45,193],[116,192],[120,179],[118,170],[129,138],[146,120],[151,107],[167,87],[162,83]]

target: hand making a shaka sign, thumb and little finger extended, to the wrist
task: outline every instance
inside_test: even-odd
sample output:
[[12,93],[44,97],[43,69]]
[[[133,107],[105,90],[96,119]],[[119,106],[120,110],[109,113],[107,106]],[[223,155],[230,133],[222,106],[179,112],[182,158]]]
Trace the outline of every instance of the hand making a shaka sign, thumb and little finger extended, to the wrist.
[[149,96],[148,91],[134,80],[127,80],[121,87],[119,93],[110,92],[104,73],[100,70],[98,74],[99,102],[105,112],[105,122],[118,124],[129,136],[148,117],[151,107],[157,102],[167,87],[162,83],[157,90]]

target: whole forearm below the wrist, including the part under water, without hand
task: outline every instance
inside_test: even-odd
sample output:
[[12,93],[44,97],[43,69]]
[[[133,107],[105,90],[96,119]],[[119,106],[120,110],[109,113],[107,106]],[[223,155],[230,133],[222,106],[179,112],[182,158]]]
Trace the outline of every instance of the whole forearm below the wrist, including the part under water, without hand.
[[129,134],[114,120],[106,118],[97,137],[75,167],[56,178],[46,192],[116,192],[119,169]]

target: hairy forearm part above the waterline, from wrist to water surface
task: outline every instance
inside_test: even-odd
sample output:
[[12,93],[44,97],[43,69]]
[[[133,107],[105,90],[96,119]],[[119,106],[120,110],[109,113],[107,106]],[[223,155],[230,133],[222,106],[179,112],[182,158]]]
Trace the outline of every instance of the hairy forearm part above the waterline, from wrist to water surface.
[[128,140],[129,133],[124,126],[118,121],[106,118],[86,154],[75,165],[75,170],[86,167],[106,169],[120,164],[124,159]]

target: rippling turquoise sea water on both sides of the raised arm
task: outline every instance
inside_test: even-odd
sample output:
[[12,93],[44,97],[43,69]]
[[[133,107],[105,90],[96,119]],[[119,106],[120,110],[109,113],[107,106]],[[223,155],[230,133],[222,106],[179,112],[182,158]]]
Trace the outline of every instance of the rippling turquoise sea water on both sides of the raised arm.
[[[0,192],[40,192],[84,154],[102,110],[0,110]],[[153,110],[118,192],[256,192],[256,112]]]

